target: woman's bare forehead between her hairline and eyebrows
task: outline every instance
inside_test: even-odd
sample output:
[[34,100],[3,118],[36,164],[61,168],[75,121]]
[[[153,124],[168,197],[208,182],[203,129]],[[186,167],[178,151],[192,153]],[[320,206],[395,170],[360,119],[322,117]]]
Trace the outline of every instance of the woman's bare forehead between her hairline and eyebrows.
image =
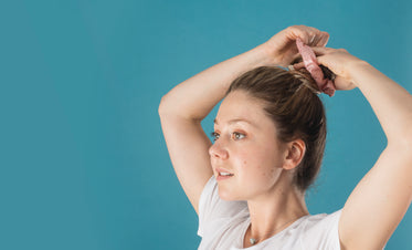
[[251,97],[243,91],[230,93],[220,105],[215,122],[226,123],[232,119],[246,119],[256,125],[272,125],[272,121],[265,115],[263,103]]

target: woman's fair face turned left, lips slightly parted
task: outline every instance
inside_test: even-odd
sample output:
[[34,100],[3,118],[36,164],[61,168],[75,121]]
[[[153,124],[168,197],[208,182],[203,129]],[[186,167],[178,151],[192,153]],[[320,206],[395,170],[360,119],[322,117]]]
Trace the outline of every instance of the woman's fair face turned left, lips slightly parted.
[[213,174],[219,176],[216,168],[233,174],[218,180],[220,197],[247,200],[271,194],[283,170],[285,148],[263,104],[243,91],[230,93],[219,108],[214,133],[209,149]]

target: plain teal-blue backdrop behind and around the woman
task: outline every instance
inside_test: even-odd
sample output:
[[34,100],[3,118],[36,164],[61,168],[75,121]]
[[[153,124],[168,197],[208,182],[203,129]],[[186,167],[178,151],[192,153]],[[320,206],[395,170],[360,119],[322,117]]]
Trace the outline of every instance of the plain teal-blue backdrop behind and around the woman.
[[[197,249],[161,96],[294,24],[329,32],[327,46],[411,93],[411,23],[408,0],[2,1],[0,249]],[[329,134],[310,213],[340,209],[387,143],[358,88],[324,101]],[[387,249],[412,249],[410,210]]]

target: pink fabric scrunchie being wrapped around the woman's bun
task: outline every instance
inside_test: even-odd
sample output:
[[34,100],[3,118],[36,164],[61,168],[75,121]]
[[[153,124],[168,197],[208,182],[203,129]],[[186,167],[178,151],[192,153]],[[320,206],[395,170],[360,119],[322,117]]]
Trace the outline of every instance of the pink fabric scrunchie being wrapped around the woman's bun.
[[334,82],[329,79],[324,77],[324,72],[319,67],[319,64],[316,60],[315,52],[310,46],[304,44],[304,42],[297,38],[296,39],[297,50],[302,54],[306,70],[310,73],[311,77],[316,81],[319,86],[319,90],[330,97],[335,94]]

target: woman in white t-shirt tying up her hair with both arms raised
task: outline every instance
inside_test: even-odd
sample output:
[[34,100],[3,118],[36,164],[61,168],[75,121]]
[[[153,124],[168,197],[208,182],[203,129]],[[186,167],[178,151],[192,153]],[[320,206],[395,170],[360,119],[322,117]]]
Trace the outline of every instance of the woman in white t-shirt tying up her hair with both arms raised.
[[[179,181],[199,216],[199,249],[382,249],[412,198],[412,96],[329,35],[289,27],[267,42],[177,85],[159,114]],[[344,208],[309,215],[305,190],[325,148],[319,91],[296,41],[335,75],[337,91],[359,87],[388,145]],[[279,66],[277,66],[279,65]],[[222,98],[214,144],[201,121]]]

